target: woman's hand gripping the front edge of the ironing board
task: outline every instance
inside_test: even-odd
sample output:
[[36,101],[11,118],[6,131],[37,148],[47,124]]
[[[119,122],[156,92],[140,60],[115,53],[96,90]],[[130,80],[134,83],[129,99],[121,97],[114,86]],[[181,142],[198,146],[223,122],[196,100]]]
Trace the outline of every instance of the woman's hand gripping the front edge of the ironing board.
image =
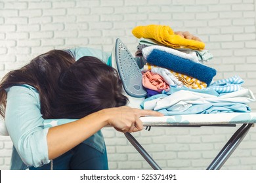
[[141,116],[163,116],[160,112],[153,110],[142,110],[127,106],[106,108],[102,112],[108,116],[108,124],[123,133],[142,130]]

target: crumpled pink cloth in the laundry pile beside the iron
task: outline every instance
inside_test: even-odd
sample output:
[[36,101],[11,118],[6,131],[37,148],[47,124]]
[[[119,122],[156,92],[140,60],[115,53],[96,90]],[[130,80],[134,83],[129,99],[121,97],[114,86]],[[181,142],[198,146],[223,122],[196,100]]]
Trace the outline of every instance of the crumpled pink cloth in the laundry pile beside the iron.
[[142,85],[145,88],[158,92],[169,90],[169,85],[163,80],[163,78],[158,74],[152,74],[150,71],[143,74]]

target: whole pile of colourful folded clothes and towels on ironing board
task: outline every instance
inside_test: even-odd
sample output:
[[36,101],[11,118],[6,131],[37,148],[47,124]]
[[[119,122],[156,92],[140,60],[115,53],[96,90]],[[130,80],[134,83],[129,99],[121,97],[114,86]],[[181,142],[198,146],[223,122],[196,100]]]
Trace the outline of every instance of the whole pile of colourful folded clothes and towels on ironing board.
[[147,97],[141,107],[165,115],[250,112],[253,93],[240,76],[213,81],[217,71],[205,62],[213,55],[201,41],[175,35],[165,25],[137,26],[135,57]]

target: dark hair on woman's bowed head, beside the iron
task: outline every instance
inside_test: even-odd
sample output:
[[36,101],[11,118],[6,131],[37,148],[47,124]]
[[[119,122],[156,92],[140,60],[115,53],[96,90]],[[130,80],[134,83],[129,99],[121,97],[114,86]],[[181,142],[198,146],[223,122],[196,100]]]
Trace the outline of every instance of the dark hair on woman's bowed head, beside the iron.
[[83,118],[103,108],[126,105],[116,69],[95,57],[77,60],[60,76],[54,118]]

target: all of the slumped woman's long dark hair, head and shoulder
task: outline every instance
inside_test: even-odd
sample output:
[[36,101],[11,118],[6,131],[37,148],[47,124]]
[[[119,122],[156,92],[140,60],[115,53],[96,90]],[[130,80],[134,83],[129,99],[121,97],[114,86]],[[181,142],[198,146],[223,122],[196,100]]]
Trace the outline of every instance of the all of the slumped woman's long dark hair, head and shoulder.
[[38,92],[43,118],[82,118],[127,103],[117,71],[94,57],[75,62],[72,54],[51,50],[7,73],[0,82],[0,115],[5,118],[11,86],[28,84]]

